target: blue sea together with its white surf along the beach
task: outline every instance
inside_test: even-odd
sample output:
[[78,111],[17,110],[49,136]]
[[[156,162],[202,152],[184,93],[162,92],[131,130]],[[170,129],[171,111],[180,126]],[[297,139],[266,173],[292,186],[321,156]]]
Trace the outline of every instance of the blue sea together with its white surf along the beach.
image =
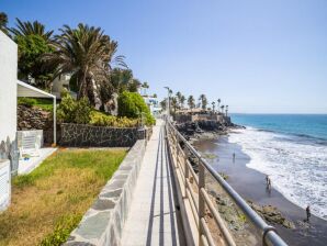
[[233,114],[247,126],[228,137],[293,203],[327,220],[327,115]]

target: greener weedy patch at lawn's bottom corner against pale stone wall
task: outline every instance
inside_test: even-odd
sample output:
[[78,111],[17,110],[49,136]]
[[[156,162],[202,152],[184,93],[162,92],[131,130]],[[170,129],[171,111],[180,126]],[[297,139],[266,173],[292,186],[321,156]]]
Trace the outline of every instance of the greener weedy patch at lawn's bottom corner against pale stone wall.
[[55,230],[53,233],[47,235],[42,242],[42,246],[56,246],[65,243],[70,232],[76,228],[81,220],[80,214],[67,214],[61,216],[56,223]]

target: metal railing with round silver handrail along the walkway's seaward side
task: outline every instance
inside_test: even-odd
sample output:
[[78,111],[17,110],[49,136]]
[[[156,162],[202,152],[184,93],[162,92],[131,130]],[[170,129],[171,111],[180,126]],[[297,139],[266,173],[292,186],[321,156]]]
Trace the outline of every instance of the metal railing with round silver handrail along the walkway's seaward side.
[[[255,226],[262,237],[262,245],[286,246],[286,243],[277,234],[273,226],[268,225],[247,202],[218,175],[207,161],[193,148],[193,146],[179,133],[179,131],[166,121],[166,136],[171,155],[174,158],[174,165],[181,170],[182,181],[184,182],[183,192],[190,200],[190,206],[199,230],[199,245],[215,245],[212,232],[205,220],[205,208],[212,214],[212,217],[219,230],[223,242],[226,245],[236,245],[234,237],[226,227],[219,212],[214,206],[212,199],[205,190],[205,171],[207,171],[227,195],[236,203],[240,211]],[[183,147],[181,147],[183,146]],[[195,174],[189,156],[198,160],[199,172]],[[194,189],[195,187],[195,189]],[[194,191],[195,190],[195,191]]]

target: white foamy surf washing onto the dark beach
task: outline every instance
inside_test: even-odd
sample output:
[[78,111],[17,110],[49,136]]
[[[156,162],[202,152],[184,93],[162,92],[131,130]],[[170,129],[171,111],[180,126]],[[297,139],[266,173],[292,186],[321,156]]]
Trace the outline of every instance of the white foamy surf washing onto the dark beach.
[[248,127],[232,133],[250,156],[247,166],[269,175],[272,186],[293,203],[327,220],[327,146],[297,142],[291,136]]

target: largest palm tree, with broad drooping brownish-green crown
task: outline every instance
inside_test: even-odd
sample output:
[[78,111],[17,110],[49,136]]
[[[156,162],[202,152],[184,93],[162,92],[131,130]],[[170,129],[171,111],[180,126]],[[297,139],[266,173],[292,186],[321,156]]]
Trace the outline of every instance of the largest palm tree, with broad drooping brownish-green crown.
[[[77,29],[64,25],[52,42],[54,52],[44,59],[56,67],[55,75],[71,72],[77,78],[78,99],[94,94],[94,78],[106,80],[112,65],[126,67],[124,56],[115,56],[117,43],[100,27],[78,24]],[[92,100],[91,100],[92,101]]]

